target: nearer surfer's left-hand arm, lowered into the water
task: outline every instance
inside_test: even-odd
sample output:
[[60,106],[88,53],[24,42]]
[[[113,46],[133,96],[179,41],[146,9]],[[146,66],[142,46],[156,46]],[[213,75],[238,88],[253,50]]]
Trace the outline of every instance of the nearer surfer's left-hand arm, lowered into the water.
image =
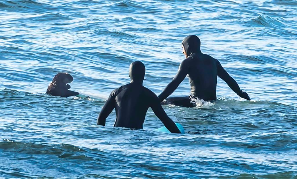
[[115,92],[116,90],[112,91],[104,104],[102,110],[99,113],[99,116],[97,118],[97,125],[104,125],[106,118],[110,115],[112,110],[116,107],[115,105]]

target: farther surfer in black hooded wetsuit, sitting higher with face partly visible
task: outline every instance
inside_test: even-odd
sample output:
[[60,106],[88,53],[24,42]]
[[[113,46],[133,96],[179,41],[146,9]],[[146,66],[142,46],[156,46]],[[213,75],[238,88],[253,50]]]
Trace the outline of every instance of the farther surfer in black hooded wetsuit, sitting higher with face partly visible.
[[[204,101],[217,100],[217,76],[224,80],[238,96],[251,100],[246,92],[241,91],[236,81],[226,72],[217,59],[201,52],[200,39],[197,36],[191,35],[184,38],[182,47],[186,59],[181,62],[177,74],[159,95],[162,104],[194,107],[195,104],[191,103],[192,98],[199,98]],[[190,96],[167,98],[187,75],[191,85]],[[166,100],[163,101],[164,99]]]

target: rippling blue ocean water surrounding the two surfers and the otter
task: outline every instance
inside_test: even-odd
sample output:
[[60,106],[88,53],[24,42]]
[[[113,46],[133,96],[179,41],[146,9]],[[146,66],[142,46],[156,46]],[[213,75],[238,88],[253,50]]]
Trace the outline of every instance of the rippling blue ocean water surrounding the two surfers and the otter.
[[[251,101],[219,79],[216,102],[163,106],[185,134],[151,109],[143,130],[96,125],[131,62],[159,94],[191,34]],[[296,62],[296,0],[0,0],[0,178],[297,178]],[[90,98],[45,94],[58,72]]]

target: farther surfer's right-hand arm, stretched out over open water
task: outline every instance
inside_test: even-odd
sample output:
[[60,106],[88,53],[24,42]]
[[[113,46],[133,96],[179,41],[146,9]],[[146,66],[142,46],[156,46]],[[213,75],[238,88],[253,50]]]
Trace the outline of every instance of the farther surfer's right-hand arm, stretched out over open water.
[[224,80],[227,85],[241,98],[251,100],[246,92],[241,91],[236,81],[228,74],[228,72],[222,67],[221,63],[217,60],[218,76]]

